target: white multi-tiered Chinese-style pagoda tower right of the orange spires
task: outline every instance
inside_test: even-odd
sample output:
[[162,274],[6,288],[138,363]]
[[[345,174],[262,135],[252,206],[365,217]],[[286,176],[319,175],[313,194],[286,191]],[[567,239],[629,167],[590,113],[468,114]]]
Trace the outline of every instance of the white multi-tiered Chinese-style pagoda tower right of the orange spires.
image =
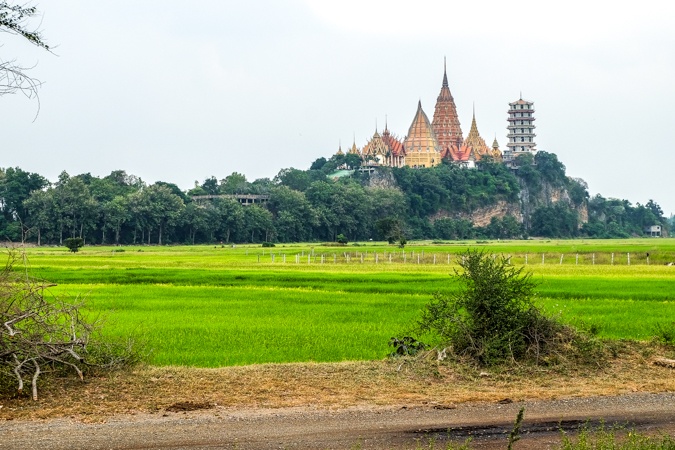
[[522,96],[515,102],[509,103],[508,117],[509,134],[506,146],[508,149],[504,152],[504,162],[511,165],[512,161],[525,153],[537,154],[537,144],[534,138],[534,102],[523,100]]

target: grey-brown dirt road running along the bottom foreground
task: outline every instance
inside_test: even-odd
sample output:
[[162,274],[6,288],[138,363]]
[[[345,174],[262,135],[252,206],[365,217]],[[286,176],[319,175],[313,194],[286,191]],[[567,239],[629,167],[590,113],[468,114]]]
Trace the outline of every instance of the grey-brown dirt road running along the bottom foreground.
[[[587,421],[675,433],[675,394],[434,407],[230,409],[115,416],[104,423],[8,420],[0,448],[12,449],[414,449],[473,438],[473,448],[503,449],[518,410],[526,408],[518,449],[553,448],[560,426]],[[438,407],[441,408],[441,407]],[[445,408],[445,407],[443,407]]]

